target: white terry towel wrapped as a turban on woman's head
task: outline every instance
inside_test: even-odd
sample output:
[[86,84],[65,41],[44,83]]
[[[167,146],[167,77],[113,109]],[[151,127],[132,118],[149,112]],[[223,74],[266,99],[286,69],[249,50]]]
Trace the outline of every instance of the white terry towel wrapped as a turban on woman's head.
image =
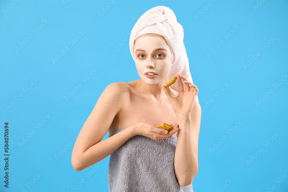
[[[183,43],[183,27],[177,22],[174,12],[168,7],[157,6],[146,11],[138,19],[131,31],[129,40],[130,52],[133,60],[135,58],[133,51],[134,41],[137,37],[144,34],[162,35],[170,47],[173,55],[173,62],[168,77],[169,82],[177,75],[177,73],[179,73],[185,76],[188,81],[193,83],[189,69],[188,57]],[[170,87],[178,92],[178,83],[174,83],[173,85],[170,85]],[[195,100],[198,101],[198,95]]]

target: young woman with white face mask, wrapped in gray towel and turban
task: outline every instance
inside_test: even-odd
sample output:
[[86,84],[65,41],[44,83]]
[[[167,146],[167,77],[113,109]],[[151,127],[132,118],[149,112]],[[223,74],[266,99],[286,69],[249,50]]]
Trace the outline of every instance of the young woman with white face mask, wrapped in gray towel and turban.
[[[162,15],[163,10],[167,15],[173,13],[158,6],[145,14],[159,10]],[[177,42],[168,40],[160,26],[143,29],[130,37],[130,51],[141,79],[106,87],[77,137],[71,163],[81,171],[110,155],[109,191],[193,191],[201,118],[198,88],[181,73],[176,73],[174,83],[178,91],[172,85],[164,87],[172,69],[181,65],[171,44]],[[174,130],[167,133],[157,128],[163,123]],[[107,131],[108,138],[101,141]]]

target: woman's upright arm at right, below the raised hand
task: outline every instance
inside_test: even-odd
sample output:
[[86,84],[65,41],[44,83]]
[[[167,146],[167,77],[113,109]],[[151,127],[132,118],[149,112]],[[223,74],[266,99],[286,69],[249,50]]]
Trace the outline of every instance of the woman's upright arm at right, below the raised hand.
[[198,172],[198,137],[201,107],[198,101],[189,116],[177,116],[179,130],[174,159],[174,171],[179,185],[190,185]]

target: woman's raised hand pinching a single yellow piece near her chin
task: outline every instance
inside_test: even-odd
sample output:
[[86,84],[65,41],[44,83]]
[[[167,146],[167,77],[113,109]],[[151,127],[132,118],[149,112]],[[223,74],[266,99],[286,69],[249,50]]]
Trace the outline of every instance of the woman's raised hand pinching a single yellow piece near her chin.
[[[185,91],[184,91],[183,83],[181,79],[184,80],[183,83],[185,84]],[[190,114],[192,112],[192,108],[194,105],[194,101],[199,90],[196,87],[196,85],[194,85],[192,82],[188,81],[186,77],[184,77],[181,74],[179,75],[178,73],[177,73],[177,81],[178,81],[178,86],[179,86],[177,97],[173,97],[170,91],[168,90],[168,88],[164,87],[164,85],[162,85],[162,88],[164,89],[164,92],[176,116],[180,115],[180,116],[190,117]]]

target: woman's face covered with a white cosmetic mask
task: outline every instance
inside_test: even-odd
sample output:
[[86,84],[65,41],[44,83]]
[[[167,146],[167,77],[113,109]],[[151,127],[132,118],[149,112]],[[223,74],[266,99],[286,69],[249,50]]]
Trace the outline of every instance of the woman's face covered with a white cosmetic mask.
[[[138,74],[147,84],[159,83],[169,75],[173,56],[163,36],[139,36],[134,43],[134,56]],[[148,75],[149,72],[156,75]]]

